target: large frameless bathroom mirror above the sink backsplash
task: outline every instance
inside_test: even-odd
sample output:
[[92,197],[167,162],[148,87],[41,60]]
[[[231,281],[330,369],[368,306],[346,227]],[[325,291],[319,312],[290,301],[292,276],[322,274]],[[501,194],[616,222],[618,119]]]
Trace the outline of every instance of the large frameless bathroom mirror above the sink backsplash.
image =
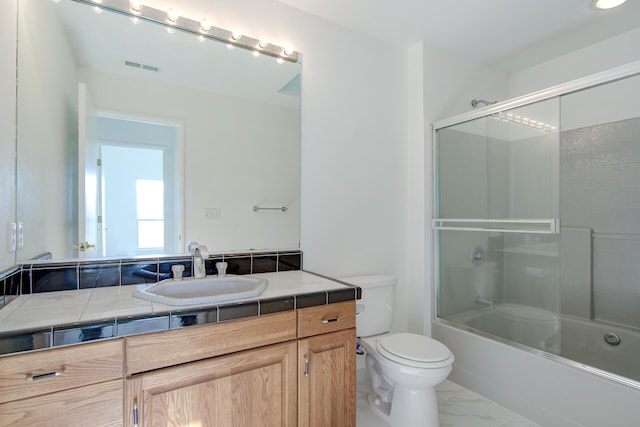
[[18,0],[16,261],[299,247],[301,64]]

